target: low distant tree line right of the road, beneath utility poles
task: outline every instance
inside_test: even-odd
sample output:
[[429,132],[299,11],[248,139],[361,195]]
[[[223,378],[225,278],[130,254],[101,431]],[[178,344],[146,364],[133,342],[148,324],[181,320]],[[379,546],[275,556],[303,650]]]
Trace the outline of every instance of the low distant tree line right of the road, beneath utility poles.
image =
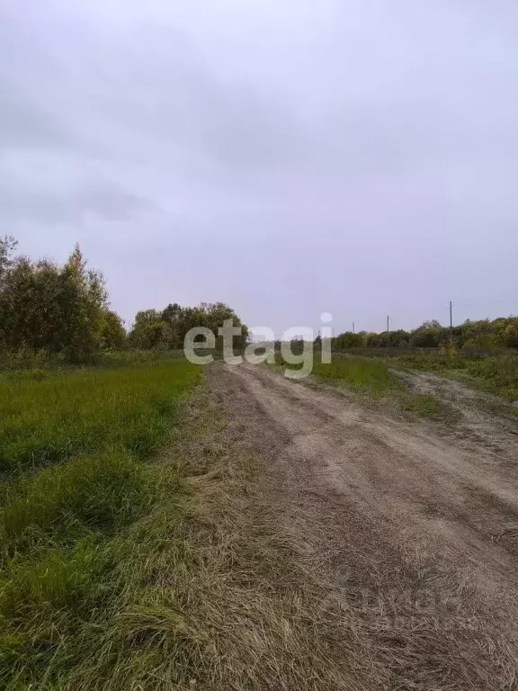
[[335,350],[347,348],[414,347],[441,348],[454,346],[465,350],[518,348],[518,317],[468,319],[450,328],[438,321],[425,321],[413,331],[398,329],[381,333],[346,331],[333,339]]

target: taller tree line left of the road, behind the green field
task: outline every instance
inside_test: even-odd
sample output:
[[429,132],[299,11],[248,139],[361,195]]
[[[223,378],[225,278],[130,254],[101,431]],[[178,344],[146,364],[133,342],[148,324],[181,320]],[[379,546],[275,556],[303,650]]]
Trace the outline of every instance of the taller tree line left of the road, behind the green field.
[[17,246],[11,236],[0,238],[0,355],[46,351],[79,361],[107,350],[181,348],[189,329],[204,326],[217,334],[225,319],[242,325],[222,302],[174,303],[138,312],[127,333],[110,308],[103,274],[87,267],[79,246],[63,265],[15,256]]

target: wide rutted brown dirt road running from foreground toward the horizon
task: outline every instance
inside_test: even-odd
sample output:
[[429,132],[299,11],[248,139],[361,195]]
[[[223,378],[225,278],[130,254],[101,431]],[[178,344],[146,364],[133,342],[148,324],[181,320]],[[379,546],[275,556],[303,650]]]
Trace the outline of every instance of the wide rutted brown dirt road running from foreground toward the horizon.
[[321,584],[316,617],[340,621],[326,654],[361,653],[348,687],[518,688],[512,431],[456,440],[264,366],[219,364],[210,381],[262,463],[264,505]]

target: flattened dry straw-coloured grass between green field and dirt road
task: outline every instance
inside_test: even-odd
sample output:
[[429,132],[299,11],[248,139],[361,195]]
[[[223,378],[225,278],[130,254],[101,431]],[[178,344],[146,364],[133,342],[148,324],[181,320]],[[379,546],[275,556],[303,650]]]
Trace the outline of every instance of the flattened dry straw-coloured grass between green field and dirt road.
[[170,454],[181,452],[192,499],[174,519],[162,506],[135,527],[124,562],[136,590],[74,688],[357,689],[327,655],[322,591],[294,560],[297,538],[264,511],[254,460],[206,390],[191,412]]

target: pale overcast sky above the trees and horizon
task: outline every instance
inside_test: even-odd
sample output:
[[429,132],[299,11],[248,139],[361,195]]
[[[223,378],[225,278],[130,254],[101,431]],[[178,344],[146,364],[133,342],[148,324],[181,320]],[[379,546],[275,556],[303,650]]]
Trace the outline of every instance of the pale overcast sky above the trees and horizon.
[[112,308],[518,313],[515,0],[2,0],[0,234]]

